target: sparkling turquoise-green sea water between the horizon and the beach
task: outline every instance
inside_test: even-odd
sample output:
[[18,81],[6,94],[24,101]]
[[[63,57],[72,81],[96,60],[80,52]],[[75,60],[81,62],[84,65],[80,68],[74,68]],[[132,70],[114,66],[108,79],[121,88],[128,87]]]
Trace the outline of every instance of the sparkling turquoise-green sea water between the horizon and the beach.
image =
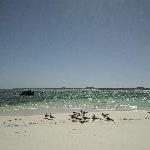
[[21,96],[28,89],[1,89],[0,108],[94,110],[150,110],[150,90],[141,89],[30,89],[33,96]]

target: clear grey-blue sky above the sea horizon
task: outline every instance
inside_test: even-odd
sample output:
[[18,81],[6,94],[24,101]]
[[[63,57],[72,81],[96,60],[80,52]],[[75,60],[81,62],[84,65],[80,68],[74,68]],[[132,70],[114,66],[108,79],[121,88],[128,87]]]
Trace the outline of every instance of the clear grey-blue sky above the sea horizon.
[[0,88],[150,87],[149,0],[0,0]]

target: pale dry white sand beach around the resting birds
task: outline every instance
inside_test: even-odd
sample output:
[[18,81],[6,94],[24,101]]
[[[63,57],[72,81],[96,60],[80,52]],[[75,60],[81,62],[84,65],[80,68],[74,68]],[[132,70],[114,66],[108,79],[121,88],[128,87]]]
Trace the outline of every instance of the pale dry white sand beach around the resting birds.
[[0,150],[150,150],[150,114],[108,113],[115,122],[105,121],[101,112],[94,114],[102,120],[84,124],[71,122],[66,113],[53,114],[54,120],[0,116]]

